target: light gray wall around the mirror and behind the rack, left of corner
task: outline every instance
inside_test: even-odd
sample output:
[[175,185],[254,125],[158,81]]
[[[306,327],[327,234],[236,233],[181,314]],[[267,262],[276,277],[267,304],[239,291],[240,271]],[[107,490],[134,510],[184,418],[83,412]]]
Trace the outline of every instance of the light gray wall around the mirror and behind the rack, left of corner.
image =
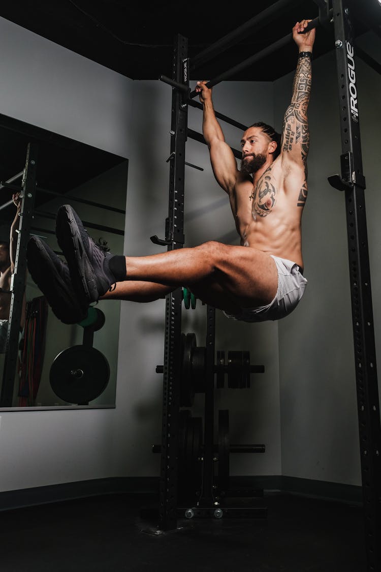
[[[133,82],[4,19],[0,49],[0,113],[129,158],[125,253],[162,252],[149,237],[163,236],[167,216],[171,88],[158,81]],[[270,84],[258,84],[255,92],[252,83],[222,84],[215,89],[216,108],[246,124],[271,123],[271,89]],[[190,116],[190,126],[200,131],[200,114]],[[241,132],[226,132],[238,146]],[[236,240],[207,148],[187,145],[187,160],[205,169],[186,171],[187,245],[218,237]],[[115,409],[0,413],[0,457],[6,459],[0,491],[159,474],[151,444],[161,435],[162,379],[155,367],[163,362],[164,309],[164,300],[121,304]],[[197,333],[198,345],[203,345],[203,311],[198,305],[183,318],[185,331]],[[265,367],[250,390],[216,396],[219,406],[234,406],[231,441],[267,447],[264,455],[237,455],[232,474],[279,474],[278,325],[240,327],[221,315],[216,320],[216,348],[249,350],[251,362]]]

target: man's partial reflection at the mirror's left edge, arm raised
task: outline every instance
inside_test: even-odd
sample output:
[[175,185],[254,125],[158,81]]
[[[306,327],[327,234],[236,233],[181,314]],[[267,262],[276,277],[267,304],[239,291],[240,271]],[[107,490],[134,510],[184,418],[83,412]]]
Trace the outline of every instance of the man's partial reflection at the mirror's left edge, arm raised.
[[[12,198],[17,210],[10,228],[10,240],[0,240],[0,353],[5,353],[6,351],[9,312],[11,305],[11,277],[14,272],[17,247],[17,230],[19,227],[21,209],[21,198],[19,193],[15,193]],[[20,331],[22,331],[24,324],[25,311],[22,312]]]

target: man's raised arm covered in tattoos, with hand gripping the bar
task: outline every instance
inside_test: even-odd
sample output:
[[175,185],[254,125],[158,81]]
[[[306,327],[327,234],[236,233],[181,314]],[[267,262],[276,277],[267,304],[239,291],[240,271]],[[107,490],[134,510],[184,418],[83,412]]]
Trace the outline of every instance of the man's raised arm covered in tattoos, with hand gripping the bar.
[[315,41],[315,30],[305,34],[304,30],[310,20],[296,22],[292,28],[292,37],[299,47],[298,65],[292,84],[291,103],[288,106],[283,120],[282,142],[280,153],[282,163],[291,162],[300,166],[306,172],[307,178],[307,154],[310,146],[310,134],[308,132],[307,108],[311,93],[311,57],[312,46]]

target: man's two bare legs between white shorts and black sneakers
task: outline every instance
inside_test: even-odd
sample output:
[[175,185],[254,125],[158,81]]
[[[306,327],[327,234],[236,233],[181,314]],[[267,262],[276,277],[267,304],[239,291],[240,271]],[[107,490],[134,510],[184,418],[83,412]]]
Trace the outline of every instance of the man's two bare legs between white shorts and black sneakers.
[[250,247],[209,242],[157,255],[126,256],[125,261],[125,281],[117,282],[104,297],[146,301],[145,297],[165,297],[186,285],[216,307],[255,307],[270,303],[278,288],[274,260]]

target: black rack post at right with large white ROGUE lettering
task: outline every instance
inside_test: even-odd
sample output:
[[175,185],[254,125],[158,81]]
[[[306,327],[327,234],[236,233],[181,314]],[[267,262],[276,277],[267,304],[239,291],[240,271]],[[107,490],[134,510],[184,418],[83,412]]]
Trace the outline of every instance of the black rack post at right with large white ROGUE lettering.
[[328,177],[346,201],[367,570],[381,570],[381,426],[372,312],[365,178],[350,4],[333,0],[342,135],[341,177]]

